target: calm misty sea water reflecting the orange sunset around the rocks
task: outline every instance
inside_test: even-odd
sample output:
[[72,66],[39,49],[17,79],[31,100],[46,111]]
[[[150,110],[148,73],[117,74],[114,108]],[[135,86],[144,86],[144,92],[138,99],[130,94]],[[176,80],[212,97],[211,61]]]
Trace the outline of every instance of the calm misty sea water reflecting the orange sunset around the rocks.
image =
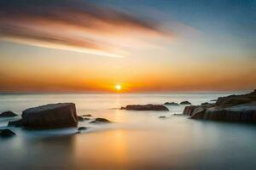
[[[121,111],[129,104],[189,100],[197,105],[228,94],[0,94],[0,111],[21,114],[26,108],[73,102],[79,115],[113,123],[28,131],[0,139],[0,169],[256,169],[256,126],[204,122],[169,112]],[[160,119],[158,116],[167,116]],[[4,128],[9,119],[0,119]]]

